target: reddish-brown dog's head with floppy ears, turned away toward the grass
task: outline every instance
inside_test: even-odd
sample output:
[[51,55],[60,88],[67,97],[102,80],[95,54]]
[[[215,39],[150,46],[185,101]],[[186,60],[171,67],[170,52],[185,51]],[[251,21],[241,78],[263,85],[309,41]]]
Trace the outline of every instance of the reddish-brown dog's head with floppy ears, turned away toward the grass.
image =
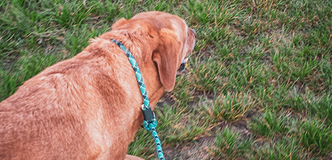
[[[151,59],[156,63],[160,82],[167,91],[174,89],[176,74],[185,70],[188,55],[194,49],[196,32],[188,28],[183,19],[165,12],[141,12],[130,21],[143,22],[147,28],[147,35],[151,39],[158,39],[157,47]],[[130,23],[124,18],[113,24],[112,29],[120,29]],[[138,26],[136,26],[136,29]],[[145,30],[140,28],[140,30]]]

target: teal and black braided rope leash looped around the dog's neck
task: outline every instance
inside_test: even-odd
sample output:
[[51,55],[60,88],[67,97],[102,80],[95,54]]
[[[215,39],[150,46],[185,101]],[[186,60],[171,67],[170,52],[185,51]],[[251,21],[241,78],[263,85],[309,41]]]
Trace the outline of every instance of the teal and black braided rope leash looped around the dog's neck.
[[135,71],[136,73],[138,85],[140,86],[140,92],[144,100],[144,105],[142,105],[142,113],[144,116],[144,121],[142,125],[145,128],[145,130],[151,132],[152,136],[154,137],[154,143],[156,144],[158,159],[165,160],[163,154],[163,148],[161,148],[161,142],[156,132],[157,120],[156,117],[154,116],[154,112],[152,112],[151,110],[149,98],[147,97],[147,89],[145,88],[142,74],[140,73],[140,69],[138,68],[136,60],[133,58],[133,55],[131,55],[130,51],[126,47],[124,47],[124,45],[121,42],[118,42],[115,39],[111,39],[111,41],[114,42],[116,45],[118,45],[122,49],[122,51],[124,51],[124,53],[127,55],[129,59],[129,62],[131,63],[131,66],[133,66],[133,71]]

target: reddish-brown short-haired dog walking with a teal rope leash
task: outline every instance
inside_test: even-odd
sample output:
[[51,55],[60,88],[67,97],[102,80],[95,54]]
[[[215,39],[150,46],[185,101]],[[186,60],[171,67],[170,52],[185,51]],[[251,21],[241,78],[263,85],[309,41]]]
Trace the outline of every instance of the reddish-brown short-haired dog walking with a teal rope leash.
[[0,103],[0,159],[140,159],[127,155],[143,117],[127,56],[135,57],[154,104],[172,91],[196,33],[164,12],[119,19],[70,60],[48,67]]

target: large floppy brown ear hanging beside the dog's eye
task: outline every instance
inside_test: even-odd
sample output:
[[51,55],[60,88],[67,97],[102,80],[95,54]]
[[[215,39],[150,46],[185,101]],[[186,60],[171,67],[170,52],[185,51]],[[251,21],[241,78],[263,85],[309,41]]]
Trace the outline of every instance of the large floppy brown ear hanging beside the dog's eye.
[[152,60],[158,66],[159,78],[167,91],[172,91],[175,85],[176,71],[178,70],[178,55],[181,42],[174,35],[174,31],[162,29],[159,31],[160,44],[152,55]]

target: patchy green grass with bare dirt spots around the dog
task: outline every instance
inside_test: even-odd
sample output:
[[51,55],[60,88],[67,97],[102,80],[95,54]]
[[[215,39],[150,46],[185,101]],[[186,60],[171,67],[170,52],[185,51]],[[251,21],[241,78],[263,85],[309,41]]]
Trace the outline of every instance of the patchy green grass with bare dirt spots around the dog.
[[[0,2],[0,100],[120,17],[160,10],[198,39],[158,103],[167,159],[332,159],[329,0]],[[140,130],[129,154],[156,159]]]

